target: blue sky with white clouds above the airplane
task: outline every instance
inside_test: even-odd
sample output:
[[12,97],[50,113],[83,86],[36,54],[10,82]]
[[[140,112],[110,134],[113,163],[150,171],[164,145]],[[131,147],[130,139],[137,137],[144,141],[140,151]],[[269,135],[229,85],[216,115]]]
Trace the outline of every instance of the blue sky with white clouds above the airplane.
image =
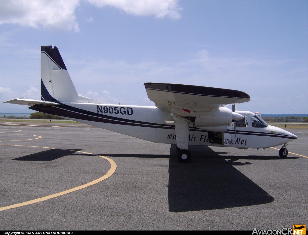
[[40,99],[42,45],[58,47],[80,95],[108,103],[154,105],[143,84],[162,82],[308,114],[306,0],[2,0],[0,112],[32,112],[2,102]]

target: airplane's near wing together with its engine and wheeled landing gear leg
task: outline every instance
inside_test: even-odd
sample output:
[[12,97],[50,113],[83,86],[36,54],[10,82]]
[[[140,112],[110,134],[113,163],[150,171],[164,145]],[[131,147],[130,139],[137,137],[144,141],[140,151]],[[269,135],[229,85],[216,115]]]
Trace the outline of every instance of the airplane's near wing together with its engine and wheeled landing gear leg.
[[176,147],[182,162],[190,159],[187,138],[190,127],[225,132],[229,123],[244,118],[225,106],[250,100],[245,92],[223,88],[151,82],[144,86],[156,107],[166,108],[174,115]]

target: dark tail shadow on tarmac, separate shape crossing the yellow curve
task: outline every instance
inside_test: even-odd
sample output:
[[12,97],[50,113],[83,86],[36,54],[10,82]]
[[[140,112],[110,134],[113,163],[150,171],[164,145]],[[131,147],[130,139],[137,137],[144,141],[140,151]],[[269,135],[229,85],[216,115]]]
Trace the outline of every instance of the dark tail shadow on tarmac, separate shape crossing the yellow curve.
[[41,151],[34,154],[29,154],[19,158],[11,159],[14,161],[52,161],[58,158],[65,157],[67,155],[72,155],[75,152],[81,151],[82,149],[49,149],[46,151]]

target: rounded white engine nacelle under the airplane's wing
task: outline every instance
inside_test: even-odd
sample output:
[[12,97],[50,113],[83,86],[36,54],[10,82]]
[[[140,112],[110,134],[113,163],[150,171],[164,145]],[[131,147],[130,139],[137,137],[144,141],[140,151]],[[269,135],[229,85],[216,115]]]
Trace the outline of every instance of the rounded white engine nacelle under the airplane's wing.
[[231,123],[232,120],[232,111],[229,108],[220,107],[211,112],[196,112],[194,127],[205,129],[203,127],[225,126]]

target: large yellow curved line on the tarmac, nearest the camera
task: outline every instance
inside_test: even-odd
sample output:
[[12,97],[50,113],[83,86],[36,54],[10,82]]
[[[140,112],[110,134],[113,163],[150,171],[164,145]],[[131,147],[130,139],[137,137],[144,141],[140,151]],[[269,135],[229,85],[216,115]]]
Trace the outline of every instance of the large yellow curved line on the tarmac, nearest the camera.
[[[11,144],[0,144],[0,145],[55,149],[55,148],[50,148],[50,147],[27,146],[27,145],[11,145]],[[75,152],[74,150],[70,150],[70,149],[61,149],[61,150],[69,150],[69,151]],[[42,198],[37,198],[37,199],[30,200],[30,201],[27,201],[27,202],[21,202],[21,203],[13,204],[13,205],[10,205],[10,206],[3,206],[3,207],[0,207],[0,211],[9,210],[9,209],[17,208],[17,207],[20,207],[20,206],[26,206],[26,205],[30,205],[30,204],[33,204],[33,203],[46,201],[46,200],[51,199],[51,198],[59,197],[59,196],[62,196],[64,194],[68,194],[68,193],[74,192],[76,190],[83,189],[83,188],[86,188],[88,186],[94,185],[98,182],[103,181],[104,179],[109,178],[113,173],[115,173],[117,165],[110,158],[107,158],[105,156],[101,156],[101,155],[98,155],[98,154],[83,152],[83,151],[77,151],[77,152],[85,153],[85,154],[91,154],[91,155],[95,155],[95,156],[101,157],[103,159],[106,159],[110,163],[111,167],[105,175],[103,175],[102,177],[95,179],[95,180],[93,180],[89,183],[86,183],[86,184],[83,184],[83,185],[77,186],[75,188],[68,189],[68,190],[65,190],[65,191],[62,191],[62,192],[59,192],[59,193],[56,193],[56,194],[51,194],[51,195],[48,195],[48,196],[45,196],[45,197],[42,197]]]

